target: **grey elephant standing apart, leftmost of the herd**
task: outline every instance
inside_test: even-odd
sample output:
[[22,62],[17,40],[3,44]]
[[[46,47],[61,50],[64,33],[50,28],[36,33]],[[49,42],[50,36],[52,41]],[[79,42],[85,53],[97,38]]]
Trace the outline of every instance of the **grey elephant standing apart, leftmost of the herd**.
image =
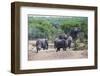
[[48,40],[47,39],[38,39],[36,41],[37,53],[43,48],[43,50],[48,49]]

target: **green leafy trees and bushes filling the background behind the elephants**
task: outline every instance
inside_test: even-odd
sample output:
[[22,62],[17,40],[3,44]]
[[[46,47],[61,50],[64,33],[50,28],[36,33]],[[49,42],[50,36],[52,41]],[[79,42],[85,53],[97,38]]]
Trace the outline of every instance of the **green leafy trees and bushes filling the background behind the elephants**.
[[80,27],[87,36],[88,18],[69,16],[28,16],[28,38],[48,38],[53,41],[55,37],[68,33],[74,26]]

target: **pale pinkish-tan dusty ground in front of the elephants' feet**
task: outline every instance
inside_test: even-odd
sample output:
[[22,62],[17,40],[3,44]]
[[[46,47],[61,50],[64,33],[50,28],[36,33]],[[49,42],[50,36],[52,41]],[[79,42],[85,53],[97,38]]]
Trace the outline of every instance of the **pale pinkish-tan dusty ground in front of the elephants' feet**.
[[87,58],[87,51],[39,51],[38,53],[34,51],[29,51],[28,59],[29,60],[51,60],[51,59],[79,59],[79,58]]

